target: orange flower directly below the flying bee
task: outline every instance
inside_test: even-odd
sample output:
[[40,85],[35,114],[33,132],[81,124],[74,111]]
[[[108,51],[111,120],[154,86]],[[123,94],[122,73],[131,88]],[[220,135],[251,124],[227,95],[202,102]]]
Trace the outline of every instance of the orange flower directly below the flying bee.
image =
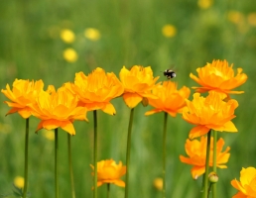
[[182,113],[186,107],[185,98],[189,98],[191,90],[184,86],[177,90],[177,84],[172,81],[165,81],[163,84],[156,85],[152,93],[157,97],[149,98],[149,104],[155,109],[146,112],[145,115],[152,115],[158,112],[167,112],[176,117],[177,113]]

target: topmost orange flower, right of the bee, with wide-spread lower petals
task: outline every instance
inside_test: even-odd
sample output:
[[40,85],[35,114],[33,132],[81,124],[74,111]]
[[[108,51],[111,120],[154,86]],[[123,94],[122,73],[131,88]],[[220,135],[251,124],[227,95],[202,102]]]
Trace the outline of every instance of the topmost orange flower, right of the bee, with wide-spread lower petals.
[[217,92],[228,94],[241,94],[244,91],[232,91],[232,89],[240,86],[247,80],[247,75],[242,73],[242,68],[237,68],[237,74],[234,76],[234,70],[228,66],[226,60],[213,60],[204,67],[197,68],[198,77],[191,73],[191,78],[201,87],[192,87],[197,92],[203,93],[214,90]]

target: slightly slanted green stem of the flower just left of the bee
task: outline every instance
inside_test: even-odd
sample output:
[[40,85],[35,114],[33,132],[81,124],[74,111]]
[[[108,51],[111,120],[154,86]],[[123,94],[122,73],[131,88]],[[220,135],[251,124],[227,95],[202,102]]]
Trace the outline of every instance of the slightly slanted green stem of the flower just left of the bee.
[[134,108],[131,109],[130,121],[129,121],[129,127],[128,127],[128,136],[127,136],[125,198],[128,198],[128,191],[129,191],[130,149],[131,149],[133,114],[134,114]]

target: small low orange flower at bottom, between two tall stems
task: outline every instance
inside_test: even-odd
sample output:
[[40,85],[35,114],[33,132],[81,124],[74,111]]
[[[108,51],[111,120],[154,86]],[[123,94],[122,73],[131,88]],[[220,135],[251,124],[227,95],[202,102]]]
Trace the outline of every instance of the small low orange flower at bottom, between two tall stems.
[[[94,166],[90,165],[92,170]],[[104,183],[113,183],[115,185],[125,187],[125,182],[120,179],[126,173],[126,166],[122,162],[118,164],[113,159],[106,159],[97,162],[97,186]],[[94,172],[91,173],[94,175]]]

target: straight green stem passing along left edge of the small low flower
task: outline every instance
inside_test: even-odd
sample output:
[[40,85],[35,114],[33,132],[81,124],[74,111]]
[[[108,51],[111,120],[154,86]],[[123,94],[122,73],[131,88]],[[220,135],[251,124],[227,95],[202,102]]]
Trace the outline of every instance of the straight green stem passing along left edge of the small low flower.
[[97,110],[93,111],[94,120],[94,198],[97,198]]

